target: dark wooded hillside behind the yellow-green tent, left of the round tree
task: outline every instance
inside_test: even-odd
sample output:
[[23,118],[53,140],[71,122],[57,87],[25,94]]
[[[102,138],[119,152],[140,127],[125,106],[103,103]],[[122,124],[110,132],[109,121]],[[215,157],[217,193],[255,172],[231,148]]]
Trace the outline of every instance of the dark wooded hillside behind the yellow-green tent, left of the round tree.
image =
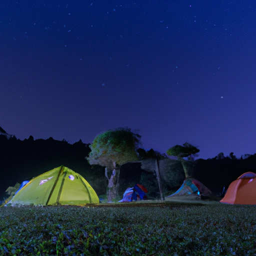
[[[85,159],[89,151],[89,145],[81,140],[68,144],[51,137],[33,140],[30,136],[19,140],[0,135],[0,197],[4,196],[8,186],[14,186],[16,182],[21,183],[60,165],[81,174],[96,193],[105,193],[104,169],[97,165],[91,168]],[[100,177],[102,180],[98,182]]]

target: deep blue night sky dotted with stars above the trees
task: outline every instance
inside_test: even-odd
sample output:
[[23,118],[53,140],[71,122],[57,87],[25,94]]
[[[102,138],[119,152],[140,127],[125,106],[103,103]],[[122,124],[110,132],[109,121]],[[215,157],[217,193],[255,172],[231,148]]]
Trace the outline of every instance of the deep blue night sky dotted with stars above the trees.
[[256,1],[2,0],[0,126],[145,149],[256,152]]

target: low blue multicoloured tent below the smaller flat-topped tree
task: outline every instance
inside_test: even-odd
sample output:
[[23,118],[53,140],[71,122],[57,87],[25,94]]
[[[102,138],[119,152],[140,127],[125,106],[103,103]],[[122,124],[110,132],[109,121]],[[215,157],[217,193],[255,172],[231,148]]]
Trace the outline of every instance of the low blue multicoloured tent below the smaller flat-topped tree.
[[212,196],[212,192],[203,185],[199,180],[195,178],[186,178],[180,188],[173,194],[165,196],[165,199],[171,199],[178,196],[190,196],[190,197],[208,197]]

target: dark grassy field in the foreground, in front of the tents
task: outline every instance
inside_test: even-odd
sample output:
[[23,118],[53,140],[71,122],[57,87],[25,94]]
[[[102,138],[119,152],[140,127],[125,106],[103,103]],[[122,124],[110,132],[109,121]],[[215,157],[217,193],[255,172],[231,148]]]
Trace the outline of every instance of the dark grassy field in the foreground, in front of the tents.
[[0,255],[255,255],[255,210],[172,202],[1,207]]

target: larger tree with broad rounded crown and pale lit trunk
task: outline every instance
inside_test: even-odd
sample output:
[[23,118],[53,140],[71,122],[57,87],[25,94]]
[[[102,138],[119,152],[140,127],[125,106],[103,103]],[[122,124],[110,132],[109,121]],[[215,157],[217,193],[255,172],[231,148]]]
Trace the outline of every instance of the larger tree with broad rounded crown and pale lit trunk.
[[[138,160],[136,149],[141,144],[140,135],[128,127],[110,129],[98,134],[90,144],[91,152],[87,160],[90,164],[105,166],[108,179],[108,201],[112,201],[118,191],[120,166]],[[111,175],[108,178],[107,172]]]

